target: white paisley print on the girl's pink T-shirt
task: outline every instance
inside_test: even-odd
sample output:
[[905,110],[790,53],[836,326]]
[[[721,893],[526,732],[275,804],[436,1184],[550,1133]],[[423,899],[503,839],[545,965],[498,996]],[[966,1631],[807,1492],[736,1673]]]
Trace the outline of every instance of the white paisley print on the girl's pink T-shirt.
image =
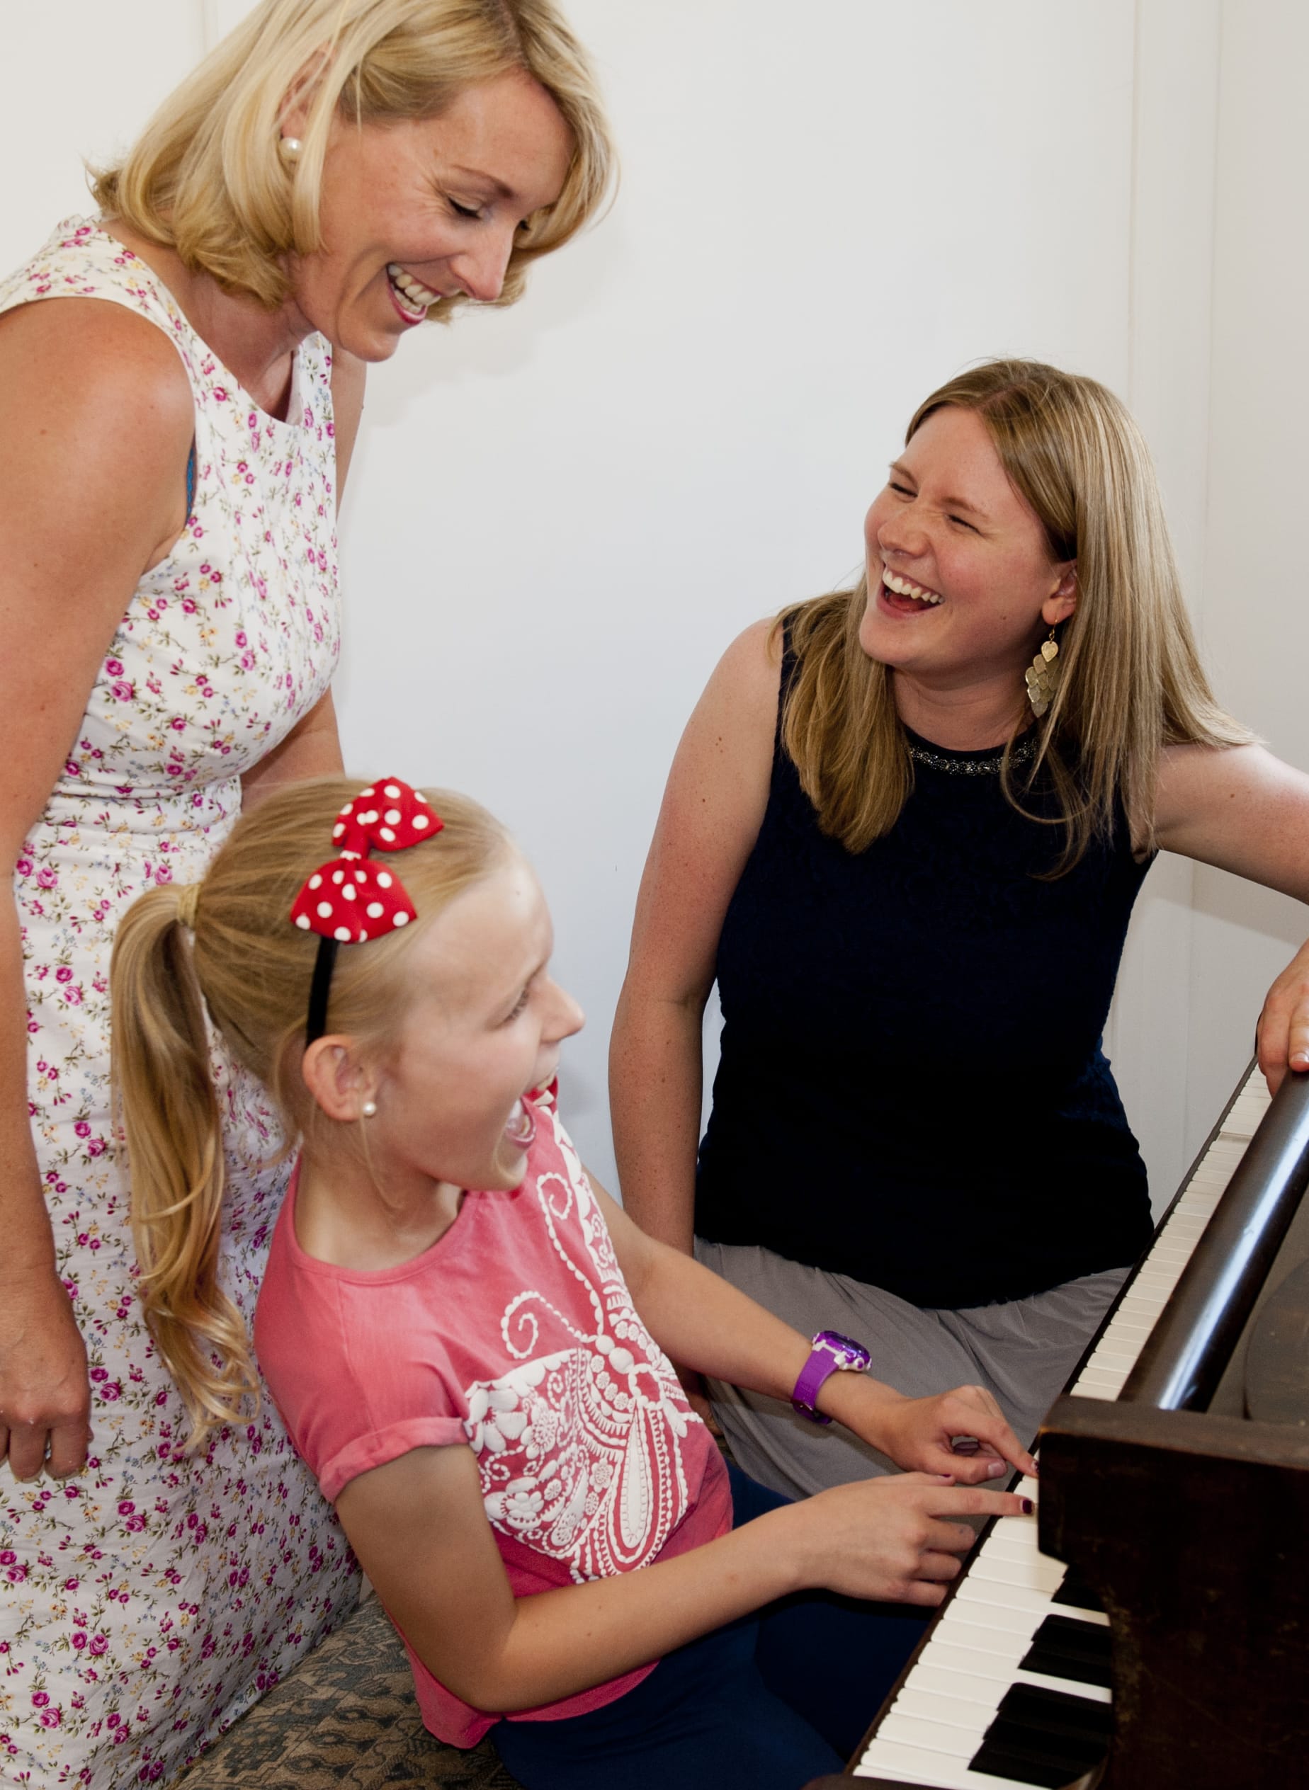
[[[543,1174],[534,1198],[595,1330],[578,1330],[537,1291],[516,1294],[500,1332],[521,1366],[466,1389],[464,1427],[491,1525],[584,1582],[652,1561],[682,1522],[680,1445],[698,1418],[636,1314],[571,1142],[559,1126],[555,1135],[569,1172]],[[564,1346],[537,1353],[544,1335]]]

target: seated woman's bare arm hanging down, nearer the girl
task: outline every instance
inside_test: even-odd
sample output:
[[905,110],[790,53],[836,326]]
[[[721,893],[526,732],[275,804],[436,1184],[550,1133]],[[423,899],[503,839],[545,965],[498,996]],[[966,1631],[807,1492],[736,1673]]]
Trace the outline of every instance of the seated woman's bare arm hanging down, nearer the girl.
[[759,834],[781,652],[759,621],[723,653],[677,748],[646,857],[609,1044],[609,1104],[627,1212],[691,1251],[700,1024],[727,904]]

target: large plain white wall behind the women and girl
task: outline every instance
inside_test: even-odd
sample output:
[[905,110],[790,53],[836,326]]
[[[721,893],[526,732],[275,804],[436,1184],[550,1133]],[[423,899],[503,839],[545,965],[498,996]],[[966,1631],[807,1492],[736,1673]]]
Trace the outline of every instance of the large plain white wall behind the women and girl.
[[[1280,38],[1280,124],[1259,120],[1253,86],[1255,70],[1268,79],[1259,23],[1277,32],[1298,7],[568,4],[603,72],[623,184],[518,310],[421,331],[376,371],[342,528],[338,702],[351,764],[476,793],[537,861],[559,972],[591,1015],[566,1110],[612,1178],[607,1031],[677,734],[740,626],[856,566],[910,410],[960,365],[1037,354],[1128,396],[1236,673],[1225,695],[1273,729],[1264,655],[1288,689],[1291,655],[1259,630],[1225,632],[1245,580],[1205,576],[1205,555],[1227,551],[1205,535],[1205,480],[1227,489],[1230,471],[1205,465],[1211,360],[1216,410],[1239,435],[1245,387],[1223,354],[1252,306],[1257,328],[1273,317],[1253,277],[1241,292],[1219,281],[1211,342],[1211,268],[1270,227],[1243,209],[1250,131],[1302,154]],[[32,79],[11,79],[0,115],[5,166],[23,170],[0,217],[4,265],[79,206],[77,154],[131,138],[202,32],[244,11],[5,13],[5,66]],[[36,79],[56,63],[57,107]],[[1261,349],[1271,378],[1277,347]],[[1293,601],[1286,551],[1273,571],[1266,630]],[[1309,763],[1289,729],[1277,743]],[[1203,945],[1205,893],[1193,965],[1191,881],[1189,866],[1151,874],[1110,1036],[1159,1190],[1230,1083],[1266,981],[1270,922],[1245,890],[1250,950]]]

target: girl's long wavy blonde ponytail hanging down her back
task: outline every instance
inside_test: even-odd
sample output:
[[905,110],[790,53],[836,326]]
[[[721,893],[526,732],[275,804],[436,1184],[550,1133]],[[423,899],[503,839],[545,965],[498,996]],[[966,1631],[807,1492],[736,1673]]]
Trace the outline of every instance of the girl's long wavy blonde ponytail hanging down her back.
[[197,1445],[240,1418],[249,1394],[258,1400],[260,1380],[242,1316],[218,1287],[222,1126],[184,931],[193,924],[195,886],[154,888],[124,915],[111,1035],[141,1308]]

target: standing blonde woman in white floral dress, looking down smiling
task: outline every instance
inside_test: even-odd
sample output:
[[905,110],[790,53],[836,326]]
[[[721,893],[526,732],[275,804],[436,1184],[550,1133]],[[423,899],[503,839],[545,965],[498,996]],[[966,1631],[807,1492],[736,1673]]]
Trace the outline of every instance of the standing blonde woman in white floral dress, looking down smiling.
[[[242,804],[340,766],[364,365],[426,315],[516,297],[607,170],[552,0],[265,0],[98,177],[102,218],[0,283],[7,1781],[174,1776],[356,1597],[267,1402],[186,1452],[134,1287],[109,952]],[[256,1085],[215,1074],[215,1248],[251,1314],[281,1138]]]

